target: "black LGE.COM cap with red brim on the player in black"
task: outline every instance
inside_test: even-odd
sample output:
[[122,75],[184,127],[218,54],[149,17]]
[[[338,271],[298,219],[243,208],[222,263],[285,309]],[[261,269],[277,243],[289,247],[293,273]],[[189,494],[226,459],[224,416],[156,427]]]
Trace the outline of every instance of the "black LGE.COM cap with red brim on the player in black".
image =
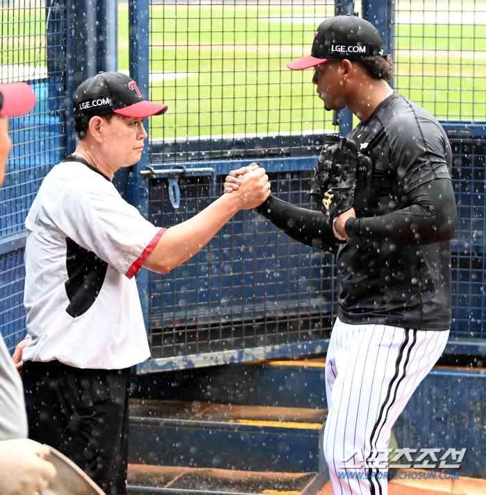
[[355,15],[330,17],[319,24],[310,55],[292,60],[289,69],[300,71],[327,60],[362,60],[383,55],[385,45],[378,29]]

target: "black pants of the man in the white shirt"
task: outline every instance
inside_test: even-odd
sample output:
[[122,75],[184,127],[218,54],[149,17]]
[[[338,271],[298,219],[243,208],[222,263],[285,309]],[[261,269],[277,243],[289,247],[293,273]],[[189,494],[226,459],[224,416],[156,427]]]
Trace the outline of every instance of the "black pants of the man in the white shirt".
[[53,446],[108,495],[126,495],[130,368],[24,363],[28,437]]

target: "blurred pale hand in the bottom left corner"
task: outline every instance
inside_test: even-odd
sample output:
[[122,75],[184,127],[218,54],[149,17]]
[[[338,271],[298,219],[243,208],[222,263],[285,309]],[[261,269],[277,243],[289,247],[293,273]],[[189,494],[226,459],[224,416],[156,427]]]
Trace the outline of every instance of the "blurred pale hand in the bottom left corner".
[[27,438],[0,442],[0,494],[34,495],[49,486],[56,468],[43,460],[46,445]]

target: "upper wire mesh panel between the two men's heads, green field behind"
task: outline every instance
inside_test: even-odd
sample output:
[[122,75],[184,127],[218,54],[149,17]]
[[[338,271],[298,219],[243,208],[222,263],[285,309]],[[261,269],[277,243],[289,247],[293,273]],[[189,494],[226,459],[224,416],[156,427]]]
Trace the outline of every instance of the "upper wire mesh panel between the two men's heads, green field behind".
[[334,0],[152,0],[150,96],[169,105],[151,123],[153,160],[289,156],[305,143],[263,141],[334,130],[312,71],[285,67],[333,15]]

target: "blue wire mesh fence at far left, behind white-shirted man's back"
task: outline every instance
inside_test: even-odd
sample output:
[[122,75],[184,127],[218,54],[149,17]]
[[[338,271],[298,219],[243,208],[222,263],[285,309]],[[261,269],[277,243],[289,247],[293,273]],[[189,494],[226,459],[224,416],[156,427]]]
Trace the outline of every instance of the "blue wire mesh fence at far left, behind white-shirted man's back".
[[37,96],[30,114],[10,119],[0,190],[0,328],[10,350],[25,332],[24,220],[42,179],[65,155],[65,10],[58,0],[1,6],[1,83],[25,81]]

